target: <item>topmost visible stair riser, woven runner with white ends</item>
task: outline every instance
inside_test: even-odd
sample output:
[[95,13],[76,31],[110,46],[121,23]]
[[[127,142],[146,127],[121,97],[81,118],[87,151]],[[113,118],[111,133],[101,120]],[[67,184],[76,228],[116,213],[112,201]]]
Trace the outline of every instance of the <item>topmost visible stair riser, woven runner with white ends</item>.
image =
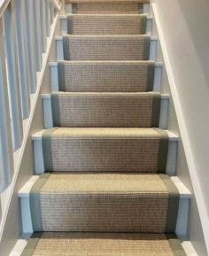
[[[85,6],[84,6],[85,5]],[[87,9],[88,8],[88,9]],[[137,4],[137,3],[104,3],[104,4],[65,4],[66,13],[149,13],[150,4]],[[89,12],[88,12],[89,11]]]

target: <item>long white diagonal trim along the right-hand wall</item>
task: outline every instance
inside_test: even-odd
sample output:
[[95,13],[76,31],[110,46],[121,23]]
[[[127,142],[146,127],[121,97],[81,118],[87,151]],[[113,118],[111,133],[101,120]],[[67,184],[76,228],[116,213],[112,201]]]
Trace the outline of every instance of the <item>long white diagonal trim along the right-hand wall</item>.
[[160,40],[160,44],[163,52],[165,66],[166,66],[166,74],[170,84],[171,94],[174,100],[174,108],[175,108],[175,112],[176,112],[176,116],[177,116],[177,120],[180,128],[180,133],[182,136],[182,144],[183,144],[183,148],[184,148],[186,159],[187,159],[187,164],[190,171],[190,178],[191,178],[195,196],[197,198],[197,208],[200,216],[200,221],[202,224],[202,229],[204,232],[205,245],[206,245],[207,252],[209,252],[209,229],[208,229],[209,220],[208,220],[208,214],[205,206],[205,200],[203,197],[203,192],[201,190],[200,183],[198,181],[198,175],[197,175],[198,172],[197,172],[197,168],[195,166],[192,151],[190,148],[190,138],[188,136],[186,124],[183,118],[182,107],[181,107],[178,93],[176,90],[174,74],[173,74],[171,63],[170,63],[169,55],[166,49],[166,42],[163,35],[163,30],[159,22],[159,13],[157,11],[156,4],[153,2],[151,5],[152,5],[152,9],[153,9],[155,20],[156,20],[156,25],[159,32],[159,40]]

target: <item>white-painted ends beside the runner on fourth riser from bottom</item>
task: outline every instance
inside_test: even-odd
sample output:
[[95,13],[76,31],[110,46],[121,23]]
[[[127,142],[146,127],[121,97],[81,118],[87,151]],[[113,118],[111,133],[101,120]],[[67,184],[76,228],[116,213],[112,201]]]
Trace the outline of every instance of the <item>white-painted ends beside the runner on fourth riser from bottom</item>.
[[[59,44],[59,41],[57,42],[57,44]],[[63,52],[59,52],[58,54],[61,54],[63,58]],[[163,64],[161,62],[156,62],[153,91],[158,91],[158,92],[161,91],[162,69],[163,69]],[[50,62],[50,87],[51,87],[51,91],[58,91],[58,63],[57,62]]]

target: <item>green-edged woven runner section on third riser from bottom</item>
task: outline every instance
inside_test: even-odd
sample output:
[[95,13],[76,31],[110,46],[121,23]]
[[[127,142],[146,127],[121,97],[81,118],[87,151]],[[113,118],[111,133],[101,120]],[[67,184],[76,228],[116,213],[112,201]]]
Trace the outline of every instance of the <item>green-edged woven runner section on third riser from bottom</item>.
[[159,127],[159,93],[51,94],[54,127]]

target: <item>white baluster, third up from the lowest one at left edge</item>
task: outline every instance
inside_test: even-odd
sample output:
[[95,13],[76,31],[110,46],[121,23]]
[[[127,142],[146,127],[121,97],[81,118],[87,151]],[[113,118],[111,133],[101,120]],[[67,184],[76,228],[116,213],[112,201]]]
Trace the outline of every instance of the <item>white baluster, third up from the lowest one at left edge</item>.
[[19,51],[19,85],[21,93],[22,116],[23,119],[27,119],[30,113],[30,91],[27,61],[25,6],[22,4],[22,0],[15,0],[13,2],[17,27],[17,45]]

